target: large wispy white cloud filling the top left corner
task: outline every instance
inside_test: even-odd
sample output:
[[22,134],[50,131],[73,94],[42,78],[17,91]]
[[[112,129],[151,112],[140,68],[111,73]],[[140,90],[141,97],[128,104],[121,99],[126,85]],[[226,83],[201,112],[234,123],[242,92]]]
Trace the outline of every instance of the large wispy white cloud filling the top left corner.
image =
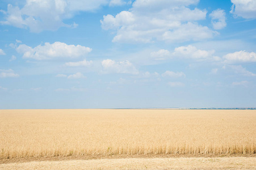
[[27,0],[21,8],[9,4],[7,11],[2,10],[5,20],[0,23],[30,28],[31,32],[55,31],[60,27],[72,27],[63,20],[72,18],[78,11],[94,11],[107,3],[108,0]]

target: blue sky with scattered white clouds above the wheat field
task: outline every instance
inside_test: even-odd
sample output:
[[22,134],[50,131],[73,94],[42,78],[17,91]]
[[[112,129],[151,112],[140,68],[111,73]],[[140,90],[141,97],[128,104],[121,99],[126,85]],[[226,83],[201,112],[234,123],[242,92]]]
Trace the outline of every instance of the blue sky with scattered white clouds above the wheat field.
[[254,0],[0,9],[0,109],[256,107]]

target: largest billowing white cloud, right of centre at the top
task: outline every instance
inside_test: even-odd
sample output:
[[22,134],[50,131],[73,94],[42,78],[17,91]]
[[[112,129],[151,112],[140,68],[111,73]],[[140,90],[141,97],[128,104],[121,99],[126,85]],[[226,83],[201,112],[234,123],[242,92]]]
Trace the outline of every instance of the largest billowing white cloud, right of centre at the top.
[[206,10],[190,9],[198,0],[137,0],[128,11],[103,16],[103,29],[116,30],[113,42],[154,42],[204,40],[216,35],[196,21],[204,20]]

